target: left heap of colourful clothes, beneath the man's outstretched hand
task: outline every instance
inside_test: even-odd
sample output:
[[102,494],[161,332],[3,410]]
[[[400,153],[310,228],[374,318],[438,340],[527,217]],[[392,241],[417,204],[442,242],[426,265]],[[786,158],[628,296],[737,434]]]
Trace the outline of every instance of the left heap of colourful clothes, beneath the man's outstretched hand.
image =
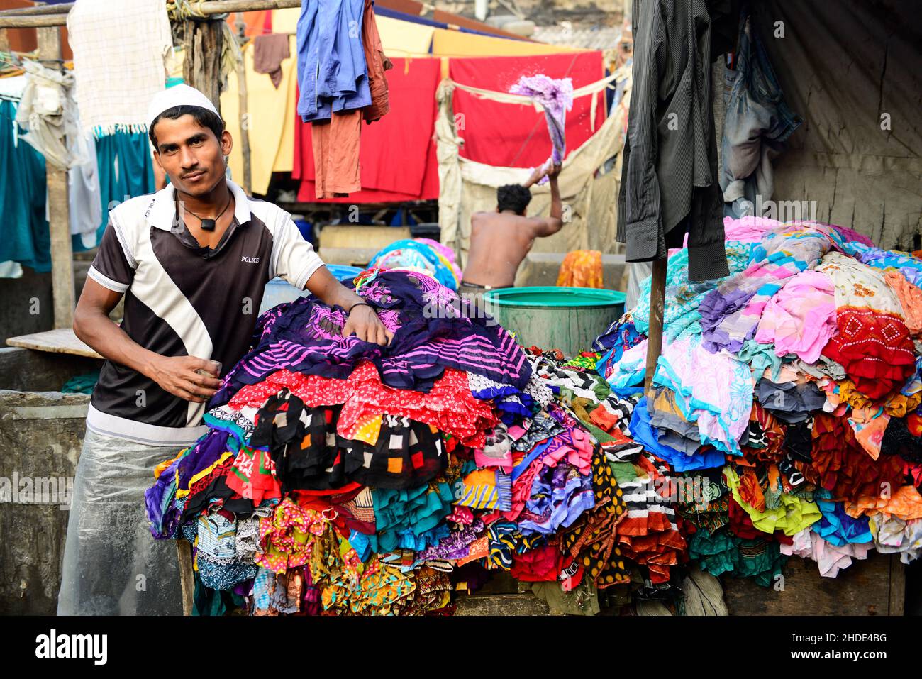
[[491,570],[626,585],[648,550],[617,542],[623,492],[550,364],[418,271],[354,286],[388,347],[311,297],[275,307],[157,470],[151,531],[193,543],[197,611],[451,613]]

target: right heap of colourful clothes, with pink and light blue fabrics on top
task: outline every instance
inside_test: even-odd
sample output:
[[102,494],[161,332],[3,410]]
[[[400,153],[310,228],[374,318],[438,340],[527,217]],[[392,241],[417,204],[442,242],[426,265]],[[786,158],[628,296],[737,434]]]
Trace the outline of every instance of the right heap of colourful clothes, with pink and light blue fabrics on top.
[[664,341],[644,395],[649,280],[598,338],[646,454],[697,491],[674,504],[692,562],[772,584],[789,556],[834,578],[922,550],[922,259],[816,222],[725,221],[730,276],[668,260]]

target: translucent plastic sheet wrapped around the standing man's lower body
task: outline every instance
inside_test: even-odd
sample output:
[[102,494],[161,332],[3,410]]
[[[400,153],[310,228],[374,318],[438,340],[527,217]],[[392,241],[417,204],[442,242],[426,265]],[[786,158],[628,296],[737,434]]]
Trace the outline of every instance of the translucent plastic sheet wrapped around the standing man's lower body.
[[182,615],[173,542],[151,537],[144,491],[175,446],[87,431],[67,523],[58,615]]

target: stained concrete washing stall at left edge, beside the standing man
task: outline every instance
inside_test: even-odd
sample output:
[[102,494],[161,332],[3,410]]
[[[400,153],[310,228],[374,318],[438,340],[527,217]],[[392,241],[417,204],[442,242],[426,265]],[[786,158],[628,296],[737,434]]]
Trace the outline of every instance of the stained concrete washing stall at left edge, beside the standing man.
[[89,406],[88,394],[60,389],[101,363],[0,349],[0,614],[53,615],[57,608],[65,503]]

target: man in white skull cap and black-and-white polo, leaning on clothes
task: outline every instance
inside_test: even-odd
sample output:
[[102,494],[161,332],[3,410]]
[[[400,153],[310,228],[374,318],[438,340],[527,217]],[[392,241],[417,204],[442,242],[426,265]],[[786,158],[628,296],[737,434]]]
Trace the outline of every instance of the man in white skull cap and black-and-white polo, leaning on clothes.
[[183,613],[176,550],[151,537],[145,490],[158,464],[207,431],[206,403],[248,350],[268,280],[342,307],[343,336],[391,339],[288,212],[227,179],[231,134],[204,94],[160,92],[148,135],[170,184],[109,213],[74,316],[77,337],[106,361],[77,465],[59,614]]

